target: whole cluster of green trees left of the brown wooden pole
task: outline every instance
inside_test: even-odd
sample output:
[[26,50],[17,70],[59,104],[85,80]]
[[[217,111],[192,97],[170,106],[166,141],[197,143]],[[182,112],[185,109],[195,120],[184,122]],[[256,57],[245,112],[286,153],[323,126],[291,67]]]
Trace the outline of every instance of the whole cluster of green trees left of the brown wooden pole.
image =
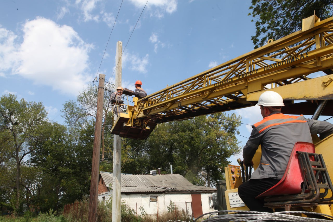
[[58,210],[89,193],[94,123],[50,123],[41,103],[0,98],[0,207]]

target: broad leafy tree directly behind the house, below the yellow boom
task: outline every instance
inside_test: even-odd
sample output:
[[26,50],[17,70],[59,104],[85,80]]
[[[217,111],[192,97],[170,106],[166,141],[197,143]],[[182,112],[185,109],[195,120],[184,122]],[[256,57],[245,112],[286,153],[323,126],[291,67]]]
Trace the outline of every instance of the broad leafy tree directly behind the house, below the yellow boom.
[[235,134],[240,117],[215,113],[190,120],[159,125],[144,145],[149,171],[162,168],[183,175],[190,182],[208,187],[223,178],[227,158],[239,152]]

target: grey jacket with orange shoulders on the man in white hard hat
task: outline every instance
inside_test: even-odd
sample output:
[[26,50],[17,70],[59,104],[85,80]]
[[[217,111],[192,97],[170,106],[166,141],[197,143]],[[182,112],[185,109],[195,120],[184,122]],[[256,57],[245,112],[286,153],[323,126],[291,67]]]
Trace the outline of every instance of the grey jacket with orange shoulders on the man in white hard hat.
[[248,164],[261,145],[261,159],[251,179],[281,179],[286,170],[291,151],[297,141],[312,143],[311,134],[323,139],[333,133],[333,124],[300,116],[272,112],[262,121],[252,125],[251,136],[243,148],[244,163]]

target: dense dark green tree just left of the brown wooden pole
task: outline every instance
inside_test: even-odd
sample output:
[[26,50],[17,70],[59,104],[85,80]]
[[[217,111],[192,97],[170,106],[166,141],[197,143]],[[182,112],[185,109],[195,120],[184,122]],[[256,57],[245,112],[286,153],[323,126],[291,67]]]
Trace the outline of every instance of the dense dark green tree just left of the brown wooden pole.
[[31,153],[30,163],[43,172],[43,191],[48,193],[46,201],[39,201],[40,209],[58,212],[59,207],[81,199],[89,191],[94,131],[88,125],[69,132],[63,125],[50,123],[45,132],[47,140]]

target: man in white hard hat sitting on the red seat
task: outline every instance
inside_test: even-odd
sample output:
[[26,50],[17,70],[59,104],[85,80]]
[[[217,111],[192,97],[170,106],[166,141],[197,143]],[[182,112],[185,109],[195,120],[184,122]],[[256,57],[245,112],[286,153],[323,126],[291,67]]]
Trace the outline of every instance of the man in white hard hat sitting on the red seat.
[[311,134],[319,134],[323,139],[333,133],[333,124],[306,119],[303,115],[282,114],[282,97],[274,91],[262,93],[256,106],[260,106],[263,120],[252,125],[243,148],[243,162],[246,166],[253,165],[252,158],[259,145],[261,159],[251,179],[238,187],[238,195],[251,211],[272,212],[264,207],[264,200],[255,197],[280,181],[297,141],[312,143]]

